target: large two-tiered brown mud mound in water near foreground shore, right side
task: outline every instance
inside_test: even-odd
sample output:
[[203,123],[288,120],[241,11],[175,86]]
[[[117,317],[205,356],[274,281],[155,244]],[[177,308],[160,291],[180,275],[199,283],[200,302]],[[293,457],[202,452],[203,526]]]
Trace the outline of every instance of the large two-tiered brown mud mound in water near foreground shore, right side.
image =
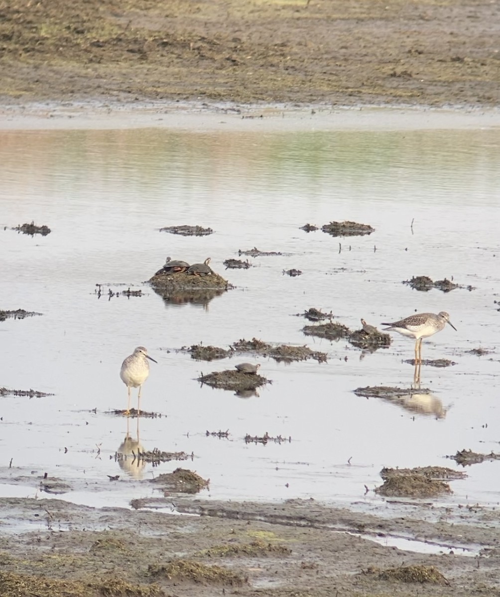
[[[381,471],[384,484],[376,487],[375,493],[381,496],[417,498],[437,497],[443,493],[453,493],[449,484],[442,480],[449,478],[450,473],[446,471],[450,469],[443,469],[444,474],[439,472],[440,469],[442,467],[416,467],[400,472],[398,469],[384,468]],[[453,476],[452,478],[458,477]]]

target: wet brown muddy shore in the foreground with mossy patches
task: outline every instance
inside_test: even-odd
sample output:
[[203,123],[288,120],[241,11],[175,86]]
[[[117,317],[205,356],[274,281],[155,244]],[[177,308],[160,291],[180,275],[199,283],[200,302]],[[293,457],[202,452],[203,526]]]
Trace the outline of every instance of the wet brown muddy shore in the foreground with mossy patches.
[[[118,576],[134,595],[233,593],[236,577],[241,579],[238,595],[244,596],[327,597],[332,590],[339,595],[499,594],[500,552],[498,534],[492,530],[498,525],[496,510],[465,507],[452,512],[415,503],[401,515],[401,508],[388,504],[398,516],[385,512],[380,517],[314,500],[171,501],[176,512],[190,515],[3,498],[2,512],[14,533],[2,534],[0,595],[30,594],[30,583],[42,577],[46,584],[55,583],[53,592],[37,595],[130,594],[113,584]],[[24,530],[16,533],[16,527]],[[435,553],[391,546],[391,539],[398,538],[401,543],[415,538]],[[249,553],[250,546],[259,549]],[[219,567],[225,580],[152,574],[152,563],[162,568],[185,562],[202,572]],[[435,567],[446,583],[383,580],[373,573],[403,564]],[[7,593],[2,587],[16,578],[23,578],[26,592]],[[103,587],[108,592],[103,593]]]

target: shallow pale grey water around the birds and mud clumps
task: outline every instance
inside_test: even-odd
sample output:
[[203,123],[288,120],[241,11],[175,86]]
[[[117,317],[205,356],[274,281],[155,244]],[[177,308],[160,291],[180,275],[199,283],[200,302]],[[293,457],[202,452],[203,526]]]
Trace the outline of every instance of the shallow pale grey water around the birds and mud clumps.
[[[54,393],[0,399],[1,496],[17,495],[17,483],[32,495],[27,485],[47,472],[75,487],[66,498],[77,503],[122,504],[154,495],[148,479],[183,466],[210,479],[203,497],[373,505],[383,500],[365,495],[365,485],[381,484],[383,466],[455,467],[444,456],[462,448],[500,451],[498,128],[419,130],[417,121],[415,130],[196,132],[131,124],[0,131],[0,141],[1,226],[34,220],[52,229],[44,238],[0,233],[0,308],[43,313],[0,323],[0,386]],[[368,223],[375,232],[339,239],[299,229],[332,220]],[[178,224],[215,233],[158,231]],[[224,270],[223,260],[253,247],[283,256],[249,257],[251,269]],[[142,297],[97,298],[97,283],[139,288],[167,255],[210,256],[236,288],[205,306],[165,303],[147,286]],[[292,267],[303,275],[283,275]],[[401,284],[417,275],[474,290],[422,293]],[[456,362],[422,368],[433,411],[412,409],[415,396],[404,408],[353,393],[409,387],[413,367],[403,359],[413,358],[412,340],[394,334],[389,349],[369,354],[306,337],[309,322],[295,314],[309,307],[332,310],[352,329],[360,318],[380,326],[448,311],[458,331],[447,327],[423,344],[424,358]],[[207,363],[178,350],[252,337],[307,344],[329,360]],[[127,425],[136,438],[137,421],[106,411],[125,408],[119,367],[139,344],[158,361],[142,407],[162,414],[140,419],[140,442],[145,450],[193,452],[193,462],[122,470],[114,459]],[[466,352],[478,347],[492,353]],[[272,380],[258,396],[242,399],[195,380],[247,360]],[[229,439],[205,433],[226,429]],[[292,441],[243,441],[265,432]],[[498,503],[499,467],[467,469],[467,479],[452,483],[453,496],[437,503]],[[106,475],[120,478],[108,483]],[[16,481],[21,476],[32,482]]]

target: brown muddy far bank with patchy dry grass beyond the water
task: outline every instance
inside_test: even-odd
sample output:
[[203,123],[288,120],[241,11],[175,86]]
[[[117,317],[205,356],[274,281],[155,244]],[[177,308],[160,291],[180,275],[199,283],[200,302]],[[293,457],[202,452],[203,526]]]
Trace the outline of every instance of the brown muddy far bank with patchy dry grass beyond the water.
[[489,0],[0,0],[1,103],[495,106]]

